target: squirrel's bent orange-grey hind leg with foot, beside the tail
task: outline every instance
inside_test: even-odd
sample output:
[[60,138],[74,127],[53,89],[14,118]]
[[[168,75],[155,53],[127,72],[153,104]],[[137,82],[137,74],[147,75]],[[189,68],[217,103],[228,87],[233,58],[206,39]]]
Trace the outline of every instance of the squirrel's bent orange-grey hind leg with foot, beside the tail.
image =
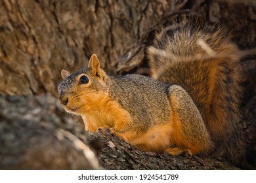
[[171,108],[171,141],[173,146],[165,149],[171,155],[195,155],[207,153],[212,142],[202,116],[190,95],[181,86],[172,85],[168,90]]

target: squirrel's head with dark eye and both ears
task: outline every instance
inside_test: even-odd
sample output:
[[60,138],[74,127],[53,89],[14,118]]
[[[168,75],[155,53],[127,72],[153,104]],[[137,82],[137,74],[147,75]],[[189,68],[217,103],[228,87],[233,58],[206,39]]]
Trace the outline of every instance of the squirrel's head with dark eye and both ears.
[[64,79],[58,85],[59,101],[62,107],[74,114],[83,114],[98,107],[108,94],[108,76],[100,69],[100,61],[91,56],[88,67],[70,74],[61,71]]

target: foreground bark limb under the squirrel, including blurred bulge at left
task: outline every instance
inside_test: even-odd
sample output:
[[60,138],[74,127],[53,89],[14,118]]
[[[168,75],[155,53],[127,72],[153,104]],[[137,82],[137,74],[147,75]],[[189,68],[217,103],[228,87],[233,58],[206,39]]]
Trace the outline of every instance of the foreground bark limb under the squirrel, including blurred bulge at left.
[[[51,95],[0,96],[0,107],[0,169],[237,169],[221,159],[142,152],[110,133],[85,132]],[[98,153],[100,165],[91,158]]]

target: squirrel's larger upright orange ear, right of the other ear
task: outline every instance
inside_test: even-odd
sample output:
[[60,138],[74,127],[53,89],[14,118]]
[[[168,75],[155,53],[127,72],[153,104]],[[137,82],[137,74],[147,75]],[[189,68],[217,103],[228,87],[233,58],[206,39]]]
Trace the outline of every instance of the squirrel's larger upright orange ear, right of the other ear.
[[91,56],[89,60],[88,69],[93,76],[98,76],[100,78],[104,77],[104,71],[100,69],[100,61],[98,61],[96,54],[93,54]]

